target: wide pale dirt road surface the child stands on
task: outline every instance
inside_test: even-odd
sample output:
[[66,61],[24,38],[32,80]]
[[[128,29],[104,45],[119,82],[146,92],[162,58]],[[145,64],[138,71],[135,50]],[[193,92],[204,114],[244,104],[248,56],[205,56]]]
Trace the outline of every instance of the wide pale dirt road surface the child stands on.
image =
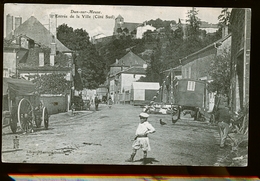
[[[93,106],[92,106],[93,109]],[[134,164],[140,165],[142,151],[133,163],[125,162],[142,109],[132,105],[101,104],[98,111],[52,115],[49,129],[12,134],[3,129],[2,161],[11,163]],[[159,119],[166,122],[161,125]],[[188,115],[171,122],[170,115],[150,114],[148,121],[156,132],[149,135],[151,152],[147,165],[213,166],[219,160],[217,128],[207,122],[193,121]],[[18,135],[19,149],[13,150]],[[230,150],[230,148],[225,148]]]

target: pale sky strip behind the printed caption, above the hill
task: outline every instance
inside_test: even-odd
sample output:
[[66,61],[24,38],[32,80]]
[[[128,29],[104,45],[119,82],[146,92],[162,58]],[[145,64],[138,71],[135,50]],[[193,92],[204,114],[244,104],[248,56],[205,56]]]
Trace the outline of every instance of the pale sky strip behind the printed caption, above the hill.
[[[22,22],[34,16],[48,28],[49,15],[55,13],[58,15],[57,26],[65,23],[73,29],[82,28],[89,33],[90,37],[99,33],[109,36],[113,34],[115,18],[118,15],[121,15],[125,22],[132,23],[143,23],[157,18],[178,22],[179,18],[187,18],[188,10],[191,10],[191,7],[9,3],[4,6],[4,22],[7,14],[22,17]],[[218,23],[221,8],[196,7],[196,10],[199,10],[198,17],[202,21]],[[4,37],[5,30],[4,23]]]

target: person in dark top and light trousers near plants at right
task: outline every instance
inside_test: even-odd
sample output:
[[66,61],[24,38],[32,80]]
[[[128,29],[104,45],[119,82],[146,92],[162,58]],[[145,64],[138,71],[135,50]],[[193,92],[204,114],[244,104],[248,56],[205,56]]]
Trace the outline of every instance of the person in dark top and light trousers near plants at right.
[[216,111],[215,119],[219,128],[220,148],[223,148],[229,133],[229,125],[231,120],[227,102],[224,102],[224,105],[219,106]]

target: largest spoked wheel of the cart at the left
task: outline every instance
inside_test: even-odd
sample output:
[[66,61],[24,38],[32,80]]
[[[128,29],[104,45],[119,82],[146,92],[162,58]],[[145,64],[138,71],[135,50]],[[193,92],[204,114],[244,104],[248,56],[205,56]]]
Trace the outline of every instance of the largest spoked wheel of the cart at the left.
[[33,124],[33,107],[28,99],[21,99],[18,104],[18,122],[23,131],[28,132]]

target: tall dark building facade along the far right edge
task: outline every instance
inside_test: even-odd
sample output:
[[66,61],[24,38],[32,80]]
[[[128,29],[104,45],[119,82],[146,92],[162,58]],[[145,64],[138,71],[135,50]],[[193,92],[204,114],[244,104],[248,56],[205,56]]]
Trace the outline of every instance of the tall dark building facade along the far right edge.
[[249,103],[251,10],[232,9],[231,99],[233,112]]

